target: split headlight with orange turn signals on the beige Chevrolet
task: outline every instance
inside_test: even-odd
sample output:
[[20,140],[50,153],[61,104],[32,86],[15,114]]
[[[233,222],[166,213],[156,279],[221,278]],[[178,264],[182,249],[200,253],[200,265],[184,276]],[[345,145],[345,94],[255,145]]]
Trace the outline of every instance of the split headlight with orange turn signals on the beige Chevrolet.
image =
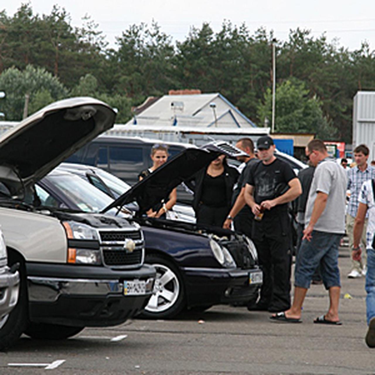
[[72,264],[101,265],[98,233],[91,226],[65,221],[63,226],[68,237],[67,262]]

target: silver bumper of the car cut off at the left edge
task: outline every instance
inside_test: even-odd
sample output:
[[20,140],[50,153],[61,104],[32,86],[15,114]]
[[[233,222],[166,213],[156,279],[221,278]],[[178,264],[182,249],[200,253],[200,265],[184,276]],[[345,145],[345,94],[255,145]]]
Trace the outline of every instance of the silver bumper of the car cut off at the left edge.
[[17,304],[20,288],[20,275],[17,272],[9,272],[5,266],[3,273],[0,273],[0,319],[12,311]]

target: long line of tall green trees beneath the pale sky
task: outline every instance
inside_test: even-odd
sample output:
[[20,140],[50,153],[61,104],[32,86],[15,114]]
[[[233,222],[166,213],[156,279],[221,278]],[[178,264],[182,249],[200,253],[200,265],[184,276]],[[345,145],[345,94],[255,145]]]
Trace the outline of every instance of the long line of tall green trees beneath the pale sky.
[[312,132],[323,139],[351,142],[353,96],[375,90],[375,56],[368,43],[355,51],[291,30],[277,40],[264,28],[224,21],[214,33],[208,23],[172,42],[153,22],[134,24],[108,46],[98,25],[86,16],[72,27],[69,13],[53,6],[34,14],[23,4],[12,16],[0,12],[0,111],[7,120],[57,99],[99,98],[118,109],[117,122],[131,107],[170,89],[220,92],[258,126],[271,119],[272,44],[276,45],[276,131]]

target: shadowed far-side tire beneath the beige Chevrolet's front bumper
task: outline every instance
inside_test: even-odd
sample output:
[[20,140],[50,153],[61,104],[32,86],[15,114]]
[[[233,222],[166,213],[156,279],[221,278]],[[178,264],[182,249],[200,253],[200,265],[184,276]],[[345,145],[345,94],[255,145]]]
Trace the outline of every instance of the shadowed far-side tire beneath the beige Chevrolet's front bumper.
[[25,335],[32,339],[63,340],[80,333],[84,327],[60,326],[59,324],[30,323]]

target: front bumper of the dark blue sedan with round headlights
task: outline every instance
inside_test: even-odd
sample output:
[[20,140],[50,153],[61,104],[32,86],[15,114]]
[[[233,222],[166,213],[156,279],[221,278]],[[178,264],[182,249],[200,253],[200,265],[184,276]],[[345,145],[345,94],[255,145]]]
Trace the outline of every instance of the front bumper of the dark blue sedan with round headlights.
[[246,303],[257,297],[261,282],[250,283],[250,274],[262,272],[254,269],[183,269],[186,278],[188,306]]

